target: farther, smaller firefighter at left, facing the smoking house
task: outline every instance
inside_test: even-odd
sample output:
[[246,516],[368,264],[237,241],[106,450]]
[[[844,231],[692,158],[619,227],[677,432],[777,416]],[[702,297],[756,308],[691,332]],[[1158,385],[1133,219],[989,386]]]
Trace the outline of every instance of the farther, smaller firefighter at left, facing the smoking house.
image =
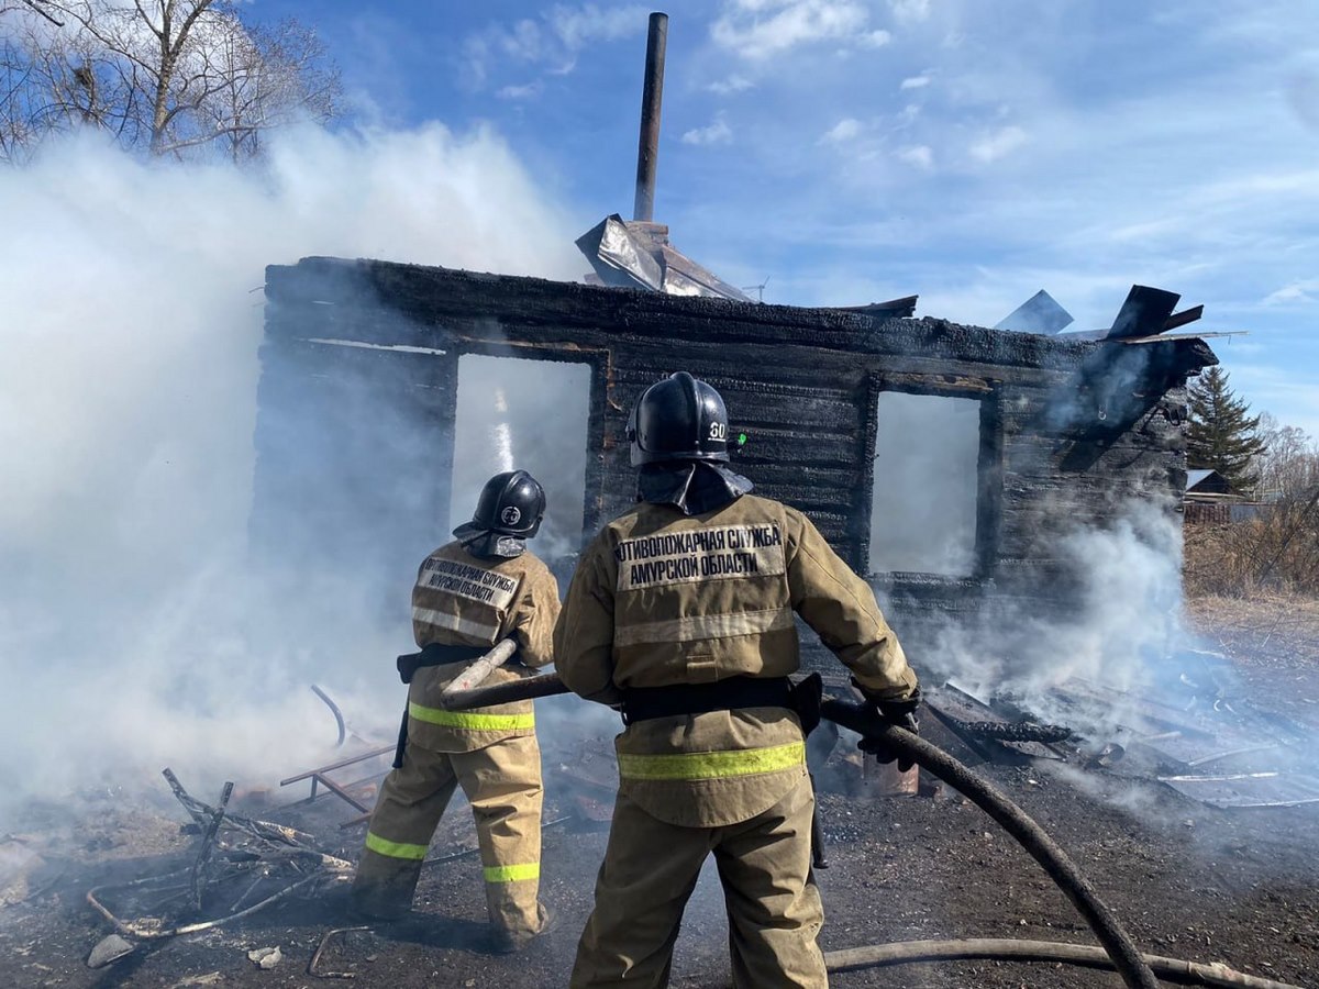
[[[496,642],[513,637],[520,667],[553,659],[559,613],[554,575],[525,550],[545,513],[545,492],[526,471],[487,481],[471,522],[421,564],[413,633],[425,665],[410,678],[405,738],[380,790],[352,886],[356,913],[402,915],[412,905],[435,827],[460,785],[476,818],[491,947],[516,951],[549,915],[537,899],[541,874],[541,750],[532,702],[445,711],[443,688]],[[427,649],[429,647],[429,649]]]

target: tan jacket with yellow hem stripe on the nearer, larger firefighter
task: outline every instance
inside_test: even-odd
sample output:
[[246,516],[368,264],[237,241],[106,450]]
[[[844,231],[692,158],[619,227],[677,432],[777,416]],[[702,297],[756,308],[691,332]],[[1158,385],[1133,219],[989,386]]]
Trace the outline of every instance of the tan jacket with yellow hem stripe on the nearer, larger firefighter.
[[[555,628],[555,665],[576,694],[786,676],[794,613],[867,687],[910,696],[915,674],[874,593],[801,512],[743,496],[683,516],[640,504],[582,554]],[[638,721],[616,740],[620,789],[673,824],[721,827],[772,807],[806,773],[795,713],[711,711]]]

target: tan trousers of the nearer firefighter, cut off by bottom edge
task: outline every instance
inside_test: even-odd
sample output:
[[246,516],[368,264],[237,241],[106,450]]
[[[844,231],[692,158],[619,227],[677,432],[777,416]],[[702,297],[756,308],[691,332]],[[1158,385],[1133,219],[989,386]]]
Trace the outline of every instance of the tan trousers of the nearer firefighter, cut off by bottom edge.
[[682,911],[711,852],[728,909],[733,985],[827,986],[815,944],[824,911],[810,873],[814,807],[803,778],[751,820],[683,828],[619,794],[572,989],[667,985]]

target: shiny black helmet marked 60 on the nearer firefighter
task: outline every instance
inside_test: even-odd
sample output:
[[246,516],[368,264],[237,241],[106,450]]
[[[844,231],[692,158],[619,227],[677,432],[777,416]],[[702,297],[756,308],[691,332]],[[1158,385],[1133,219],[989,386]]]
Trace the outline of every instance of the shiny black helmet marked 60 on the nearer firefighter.
[[728,410],[711,385],[686,371],[650,385],[628,419],[632,465],[728,460]]

